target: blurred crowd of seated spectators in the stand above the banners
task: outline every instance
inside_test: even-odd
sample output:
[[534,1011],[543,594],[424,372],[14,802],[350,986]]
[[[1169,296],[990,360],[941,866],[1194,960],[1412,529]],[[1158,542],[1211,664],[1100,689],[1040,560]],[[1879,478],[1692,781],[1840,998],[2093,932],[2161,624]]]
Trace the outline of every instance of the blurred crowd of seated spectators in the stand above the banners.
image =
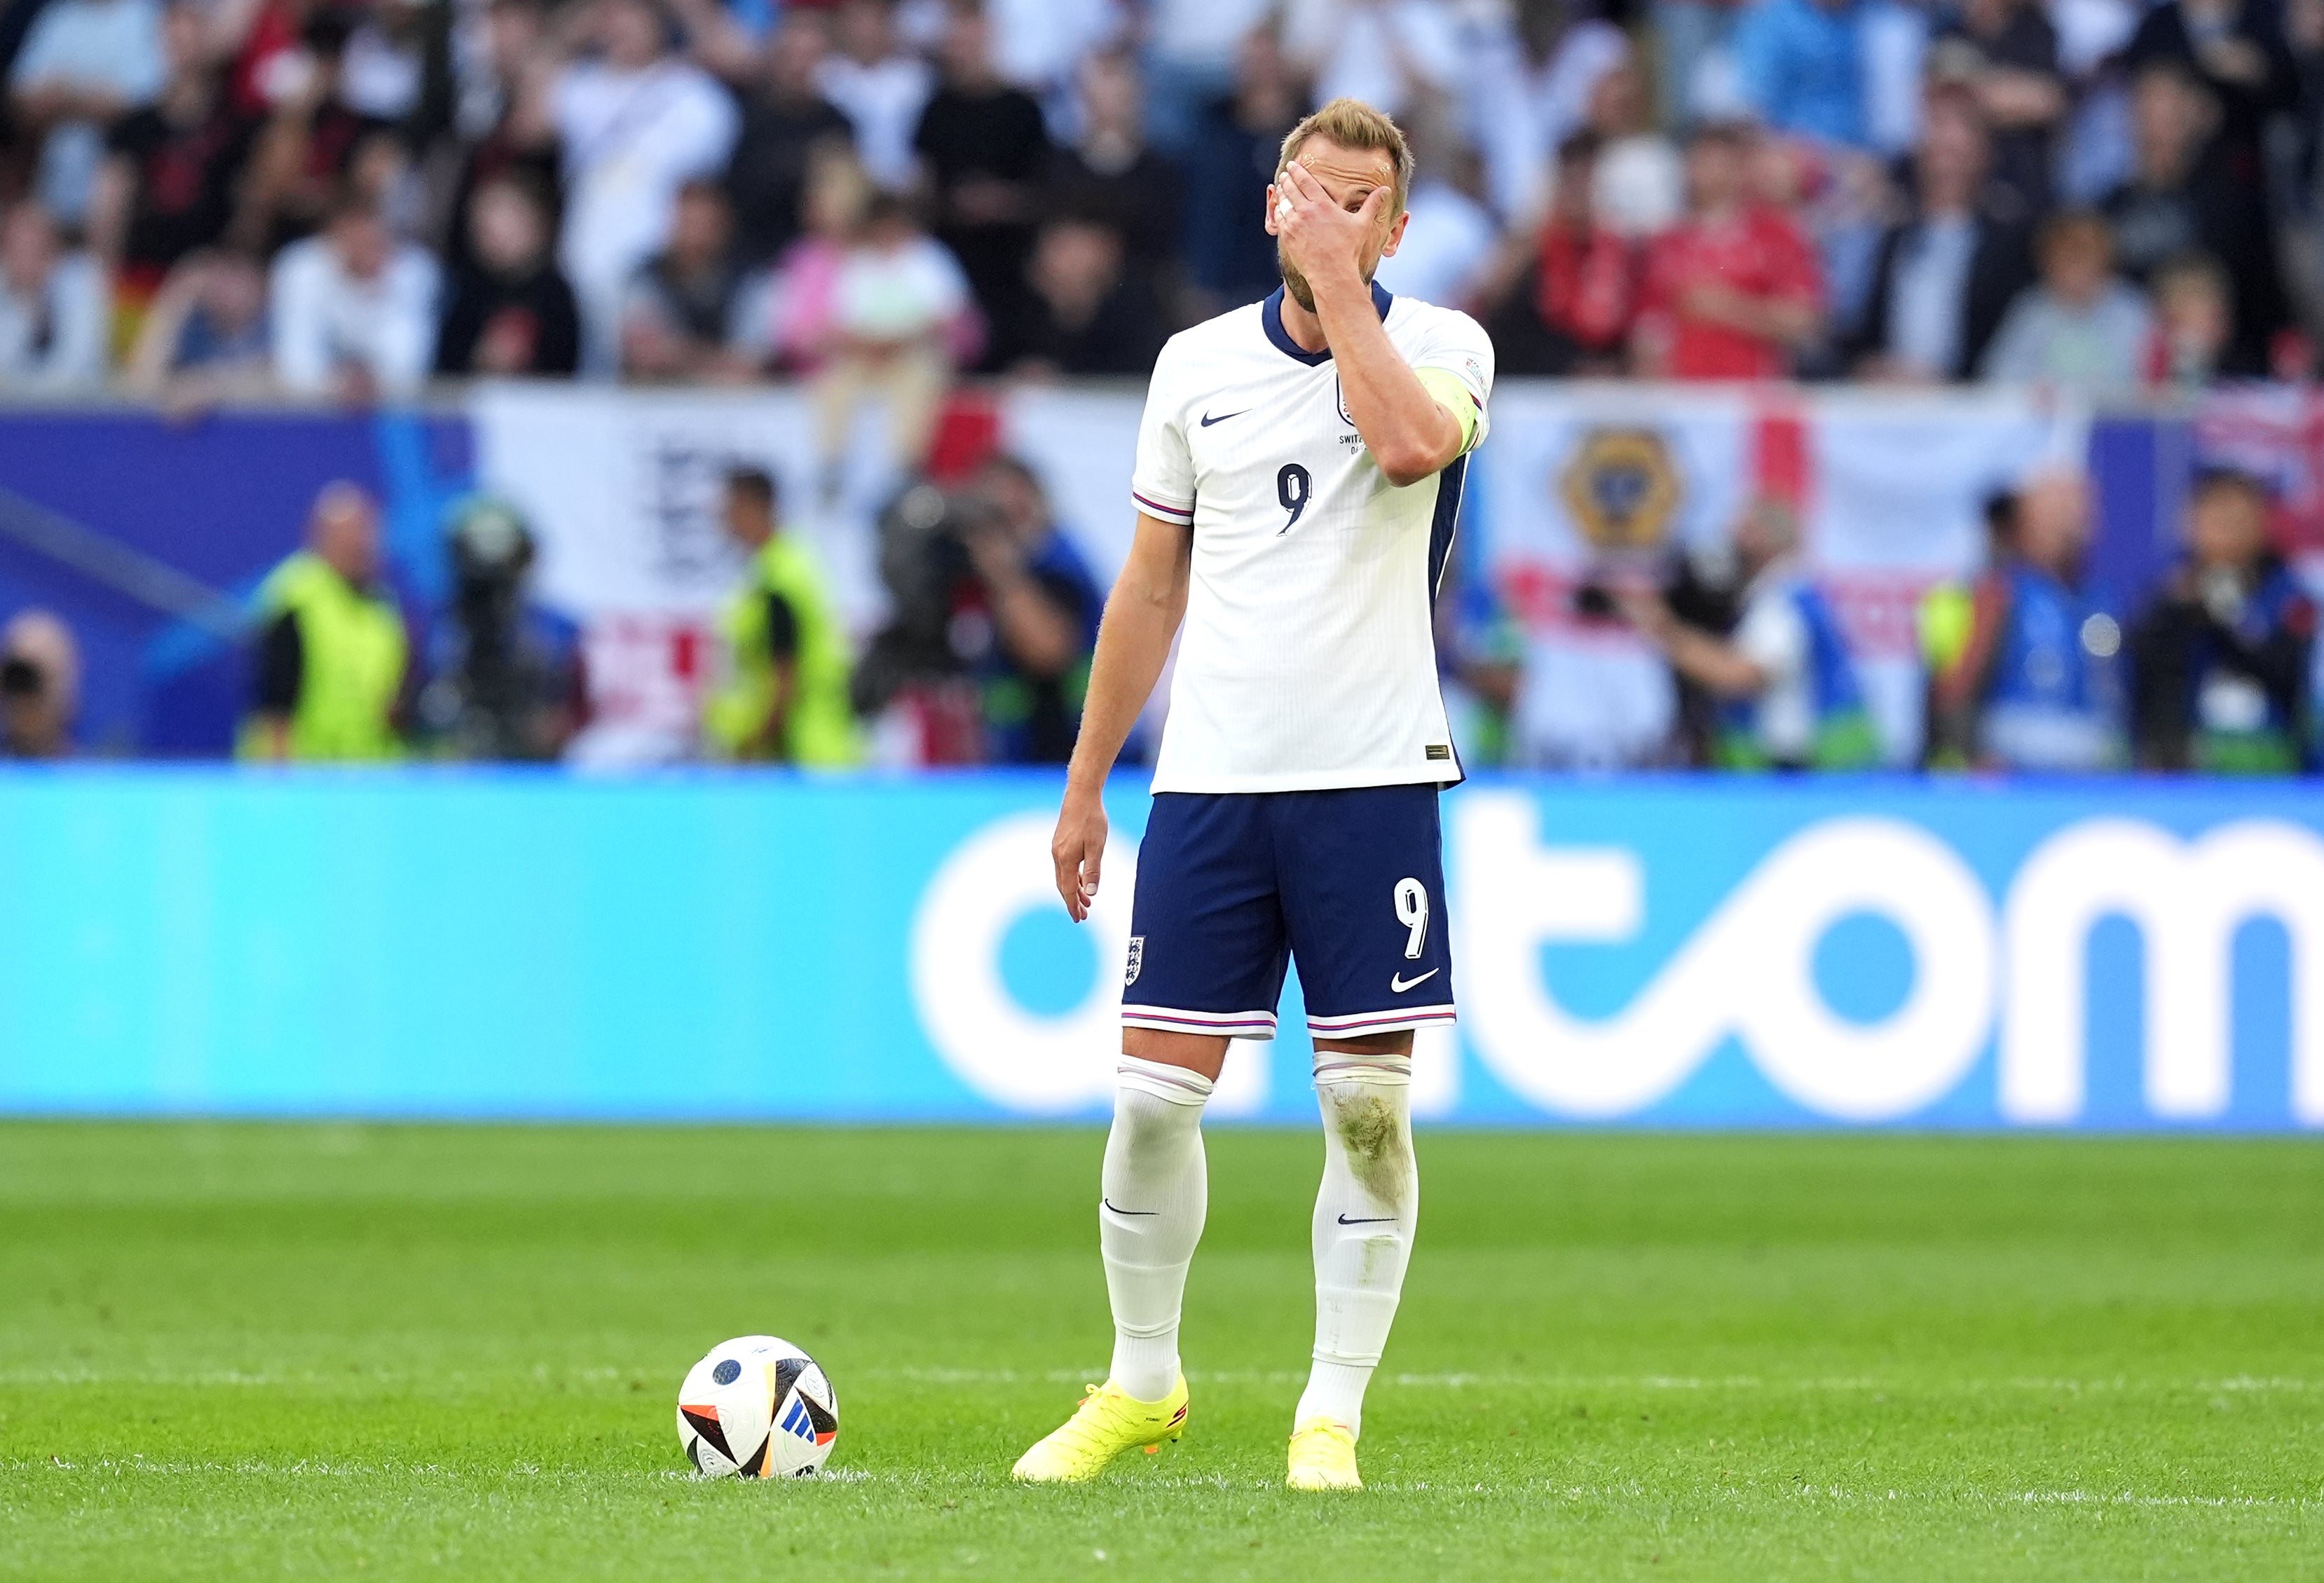
[[[0,388],[1143,374],[1281,135],[1501,372],[2305,377],[2324,0],[9,0]],[[834,442],[837,444],[837,442]]]

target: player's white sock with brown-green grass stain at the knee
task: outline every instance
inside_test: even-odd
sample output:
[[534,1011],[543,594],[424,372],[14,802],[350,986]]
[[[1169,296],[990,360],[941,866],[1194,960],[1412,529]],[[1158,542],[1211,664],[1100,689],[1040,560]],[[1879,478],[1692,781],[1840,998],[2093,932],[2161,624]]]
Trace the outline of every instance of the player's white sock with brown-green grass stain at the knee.
[[1420,1220],[1408,1055],[1315,1051],[1322,1190],[1315,1195],[1315,1364],[1292,1425],[1364,1432],[1364,1385],[1397,1320]]

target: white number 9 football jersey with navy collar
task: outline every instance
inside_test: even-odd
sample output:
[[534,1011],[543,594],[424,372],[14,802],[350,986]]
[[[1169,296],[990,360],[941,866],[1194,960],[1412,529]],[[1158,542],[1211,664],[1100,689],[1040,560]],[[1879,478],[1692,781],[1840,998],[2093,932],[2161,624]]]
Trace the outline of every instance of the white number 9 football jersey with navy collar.
[[[1492,342],[1466,314],[1371,298],[1415,370],[1446,370],[1485,439]],[[1332,353],[1283,330],[1283,293],[1171,337],[1129,481],[1195,530],[1157,793],[1271,793],[1462,779],[1436,688],[1432,607],[1466,456],[1394,488],[1364,449]]]

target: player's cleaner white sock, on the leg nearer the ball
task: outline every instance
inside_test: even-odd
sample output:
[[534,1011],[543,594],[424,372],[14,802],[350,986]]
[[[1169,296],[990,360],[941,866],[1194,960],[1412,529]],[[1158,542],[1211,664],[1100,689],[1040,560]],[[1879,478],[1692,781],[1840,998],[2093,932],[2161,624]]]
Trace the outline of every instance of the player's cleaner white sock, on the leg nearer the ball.
[[1097,1246],[1113,1297],[1113,1383],[1160,1402],[1178,1383],[1178,1309],[1185,1267],[1211,1204],[1202,1158],[1202,1106],[1211,1079],[1122,1055],[1106,1134]]

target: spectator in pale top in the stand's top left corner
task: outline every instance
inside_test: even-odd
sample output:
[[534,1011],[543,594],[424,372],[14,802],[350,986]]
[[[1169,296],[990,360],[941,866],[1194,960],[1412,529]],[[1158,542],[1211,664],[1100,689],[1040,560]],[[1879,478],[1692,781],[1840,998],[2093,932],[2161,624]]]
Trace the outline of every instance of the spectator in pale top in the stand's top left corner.
[[79,225],[105,130],[151,105],[167,77],[156,0],[49,0],[9,70],[16,126],[42,142],[40,198]]

